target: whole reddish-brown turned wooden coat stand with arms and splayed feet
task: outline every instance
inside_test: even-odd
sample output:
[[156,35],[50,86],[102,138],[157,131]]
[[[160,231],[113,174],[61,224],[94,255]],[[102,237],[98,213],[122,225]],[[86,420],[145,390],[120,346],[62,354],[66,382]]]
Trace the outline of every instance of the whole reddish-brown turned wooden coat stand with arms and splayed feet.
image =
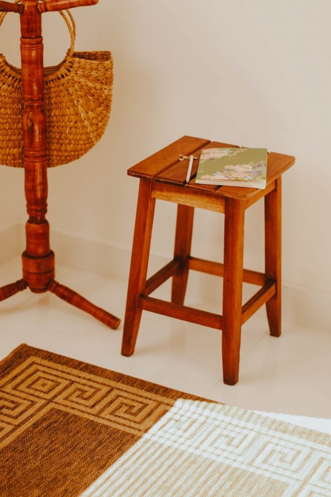
[[23,93],[23,165],[27,214],[23,278],[0,288],[0,300],[29,287],[34,293],[50,291],[110,328],[120,320],[81,295],[55,281],[55,257],[50,248],[47,213],[47,127],[44,110],[44,64],[41,16],[44,12],[95,5],[98,0],[0,1],[1,12],[20,14]]

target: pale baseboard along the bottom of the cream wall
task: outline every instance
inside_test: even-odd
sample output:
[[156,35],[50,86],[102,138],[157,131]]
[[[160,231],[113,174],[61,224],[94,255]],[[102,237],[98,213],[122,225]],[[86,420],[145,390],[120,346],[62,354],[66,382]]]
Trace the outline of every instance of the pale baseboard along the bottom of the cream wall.
[[[128,280],[131,248],[86,240],[56,230],[52,231],[51,246],[56,253],[58,264]],[[22,250],[24,250],[23,225],[17,223],[0,232],[1,264],[20,254]],[[153,274],[169,260],[170,258],[151,254],[148,272]],[[246,292],[247,290],[244,289],[244,295]],[[221,299],[221,278],[192,271],[188,296],[197,301],[218,304],[218,296]],[[307,328],[331,331],[331,293],[290,285],[285,281],[282,287],[282,301],[283,321]]]

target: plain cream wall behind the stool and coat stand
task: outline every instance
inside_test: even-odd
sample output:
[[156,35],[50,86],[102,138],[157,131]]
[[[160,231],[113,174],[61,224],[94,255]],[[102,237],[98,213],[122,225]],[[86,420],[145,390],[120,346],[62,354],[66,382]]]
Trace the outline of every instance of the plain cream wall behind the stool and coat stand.
[[[100,0],[72,13],[76,49],[111,50],[115,79],[102,140],[49,170],[58,262],[127,278],[138,187],[127,169],[177,138],[266,147],[296,157],[283,177],[285,317],[330,327],[330,0]],[[0,51],[16,65],[18,24],[9,14],[0,29]],[[66,26],[47,13],[43,29],[53,65],[68,47]],[[1,250],[15,234],[19,253],[23,171],[1,166],[0,185]],[[174,205],[157,206],[155,261],[171,254],[174,215]],[[222,231],[221,215],[198,211],[194,255],[222,260]],[[261,203],[246,217],[247,267],[263,270],[263,237]],[[218,283],[205,278],[192,291],[215,298]]]

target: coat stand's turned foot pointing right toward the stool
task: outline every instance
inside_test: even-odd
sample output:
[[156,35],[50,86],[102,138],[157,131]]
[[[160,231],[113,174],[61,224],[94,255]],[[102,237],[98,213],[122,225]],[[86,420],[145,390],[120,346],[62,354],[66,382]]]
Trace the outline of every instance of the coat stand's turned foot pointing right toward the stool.
[[50,292],[57,295],[58,297],[60,297],[60,299],[68,302],[68,304],[78,307],[78,309],[81,309],[82,311],[91,314],[91,316],[101,321],[105,325],[109,326],[113,330],[115,330],[121,323],[121,320],[119,318],[116,318],[107,311],[104,311],[100,307],[95,306],[94,304],[86,300],[84,297],[79,295],[78,293],[74,292],[65,285],[61,285],[55,280],[51,281],[48,284],[47,289]]

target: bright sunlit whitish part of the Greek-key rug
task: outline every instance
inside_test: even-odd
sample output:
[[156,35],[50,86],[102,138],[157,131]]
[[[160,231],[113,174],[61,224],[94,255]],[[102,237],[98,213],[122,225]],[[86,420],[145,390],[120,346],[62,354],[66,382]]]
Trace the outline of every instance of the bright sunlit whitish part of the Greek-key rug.
[[331,436],[179,399],[81,497],[330,497]]

